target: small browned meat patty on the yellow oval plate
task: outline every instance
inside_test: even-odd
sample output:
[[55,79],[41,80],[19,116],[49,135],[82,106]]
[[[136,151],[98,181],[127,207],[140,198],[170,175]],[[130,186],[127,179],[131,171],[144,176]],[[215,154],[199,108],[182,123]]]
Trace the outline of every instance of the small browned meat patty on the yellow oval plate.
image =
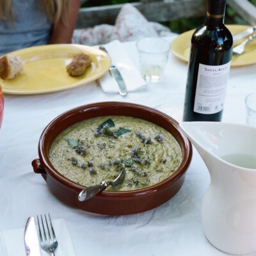
[[73,60],[67,65],[67,72],[70,76],[81,76],[91,63],[92,59],[88,54],[78,54],[74,56]]

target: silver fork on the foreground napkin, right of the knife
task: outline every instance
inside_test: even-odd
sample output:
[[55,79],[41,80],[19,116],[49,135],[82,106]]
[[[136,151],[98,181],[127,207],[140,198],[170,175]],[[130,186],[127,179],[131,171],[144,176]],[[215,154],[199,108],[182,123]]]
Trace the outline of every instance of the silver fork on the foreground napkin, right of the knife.
[[[39,218],[37,216],[37,223],[38,223],[38,229],[39,229],[39,238],[40,238],[40,245],[41,248],[49,253],[49,255],[54,256],[54,251],[56,250],[57,246],[58,246],[58,241],[56,239],[55,233],[54,233],[54,229],[52,227],[52,220],[51,220],[51,216],[48,213],[49,216],[49,221],[47,221],[46,215],[44,214],[44,218],[45,218],[45,224],[47,227],[47,234],[45,233],[45,224],[42,218],[42,214],[41,214],[41,225],[40,225],[40,221]],[[49,224],[50,223],[50,227],[51,227],[51,231],[49,229]],[[41,231],[41,227],[42,226],[42,231]],[[43,233],[43,236],[42,236]]]

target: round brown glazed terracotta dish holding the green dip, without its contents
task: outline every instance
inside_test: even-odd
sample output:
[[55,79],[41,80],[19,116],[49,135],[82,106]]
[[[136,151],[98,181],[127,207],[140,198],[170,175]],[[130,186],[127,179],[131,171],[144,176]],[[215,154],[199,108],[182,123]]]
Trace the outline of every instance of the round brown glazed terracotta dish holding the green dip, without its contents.
[[[56,136],[70,125],[107,115],[134,116],[163,127],[178,141],[182,149],[182,162],[177,172],[154,186],[124,192],[103,191],[87,201],[80,202],[77,197],[84,186],[68,180],[54,169],[48,157],[49,148]],[[42,132],[38,154],[39,159],[32,162],[34,172],[42,174],[52,193],[60,200],[88,212],[123,215],[147,211],[170,200],[184,182],[186,170],[191,162],[192,147],[179,124],[156,109],[126,102],[99,102],[71,109],[52,120]]]

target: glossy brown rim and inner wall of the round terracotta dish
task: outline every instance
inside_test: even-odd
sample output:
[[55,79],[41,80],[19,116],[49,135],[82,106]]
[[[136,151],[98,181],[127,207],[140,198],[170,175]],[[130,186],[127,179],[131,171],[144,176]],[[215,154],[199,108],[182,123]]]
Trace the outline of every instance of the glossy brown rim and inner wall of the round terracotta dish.
[[[54,120],[52,120],[44,129],[44,131],[42,132],[41,136],[40,136],[40,140],[39,140],[39,144],[38,144],[38,154],[39,154],[39,158],[40,158],[40,162],[42,164],[42,166],[44,166],[45,168],[45,172],[49,173],[49,175],[51,175],[51,177],[56,180],[57,182],[59,182],[60,184],[62,184],[63,186],[65,186],[66,188],[72,190],[72,191],[76,191],[77,193],[79,193],[79,191],[81,191],[82,189],[84,189],[85,187],[77,184],[76,182],[73,182],[72,180],[67,179],[66,177],[64,177],[63,175],[61,175],[61,173],[58,172],[58,170],[56,170],[52,164],[51,161],[49,160],[49,156],[48,156],[48,152],[49,152],[49,148],[51,147],[52,141],[54,140],[54,138],[56,138],[56,136],[58,136],[60,132],[58,132],[58,134],[56,134],[56,136],[51,136],[52,131],[55,131],[58,127],[58,129],[64,131],[65,129],[67,129],[68,127],[70,127],[73,124],[76,124],[77,122],[81,122],[82,120],[86,120],[89,118],[93,118],[93,117],[97,117],[97,116],[109,116],[109,115],[113,115],[113,113],[107,113],[106,115],[104,115],[104,113],[102,113],[102,115],[96,115],[96,113],[99,113],[100,109],[104,109],[104,110],[108,110],[112,108],[115,109],[115,111],[118,111],[118,108],[123,108],[123,109],[136,109],[137,111],[141,112],[141,113],[147,113],[147,115],[151,115],[151,116],[158,116],[159,117],[159,122],[166,122],[166,124],[170,124],[173,125],[174,129],[173,131],[175,131],[176,134],[173,134],[172,132],[170,132],[175,139],[178,141],[179,145],[182,144],[183,147],[180,145],[180,148],[182,150],[182,161],[180,163],[179,168],[176,170],[175,173],[173,173],[172,175],[170,175],[170,177],[168,177],[167,179],[163,180],[162,182],[159,182],[157,184],[154,184],[152,186],[148,186],[146,188],[140,188],[140,189],[136,189],[136,190],[131,190],[131,191],[102,191],[101,193],[95,195],[95,197],[97,198],[113,198],[113,200],[118,200],[125,198],[126,196],[139,196],[139,195],[146,195],[146,194],[150,194],[150,193],[154,193],[154,191],[158,191],[159,189],[165,189],[168,188],[169,186],[171,186],[171,184],[173,182],[175,182],[176,180],[178,180],[182,175],[184,175],[184,173],[186,173],[186,171],[188,170],[188,166],[191,162],[191,157],[192,157],[192,147],[191,147],[191,142],[188,140],[186,134],[184,134],[184,132],[182,131],[182,129],[179,126],[179,123],[174,120],[172,117],[166,115],[165,113],[158,111],[157,109],[153,109],[150,108],[148,106],[143,106],[140,104],[134,104],[134,103],[129,103],[129,102],[96,102],[96,103],[92,103],[92,104],[86,104],[83,106],[79,106],[77,108],[73,108],[70,109],[64,113],[62,113],[61,115],[57,116],[56,118],[54,118]],[[83,118],[81,120],[77,120],[77,116],[79,114],[81,115],[85,115],[86,111],[91,111],[92,113],[95,112],[95,116],[89,117],[89,118]],[[121,111],[120,111],[121,112]],[[132,117],[137,117],[136,114],[135,115],[125,115],[125,113],[123,114],[118,114],[119,116],[132,116]],[[138,117],[141,118],[141,117]],[[141,118],[143,120],[148,120],[150,118]],[[76,122],[70,122],[70,120],[76,120]],[[152,122],[149,121],[149,122]],[[157,124],[161,127],[163,127],[161,124],[159,124],[159,122],[152,122],[153,124]],[[61,124],[69,124],[68,126],[65,126],[64,129],[60,128]],[[164,127],[163,127],[164,128]],[[165,129],[165,128],[164,128]]]

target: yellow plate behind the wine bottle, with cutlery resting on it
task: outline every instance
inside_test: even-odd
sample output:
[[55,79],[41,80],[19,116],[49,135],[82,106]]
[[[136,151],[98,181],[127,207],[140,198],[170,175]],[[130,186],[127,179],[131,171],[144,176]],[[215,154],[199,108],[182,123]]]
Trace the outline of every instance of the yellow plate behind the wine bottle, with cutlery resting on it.
[[[244,31],[248,26],[243,25],[227,25],[227,28],[230,30],[232,35],[236,35]],[[180,34],[175,40],[172,42],[172,52],[177,58],[182,61],[188,62],[189,59],[189,51],[190,51],[190,40],[195,30],[190,30],[185,33]],[[237,44],[241,44],[243,38],[237,42],[234,42],[234,47]],[[241,56],[232,56],[231,66],[239,67],[245,65],[252,65],[256,63],[256,40],[250,42],[245,47],[245,51]]]

